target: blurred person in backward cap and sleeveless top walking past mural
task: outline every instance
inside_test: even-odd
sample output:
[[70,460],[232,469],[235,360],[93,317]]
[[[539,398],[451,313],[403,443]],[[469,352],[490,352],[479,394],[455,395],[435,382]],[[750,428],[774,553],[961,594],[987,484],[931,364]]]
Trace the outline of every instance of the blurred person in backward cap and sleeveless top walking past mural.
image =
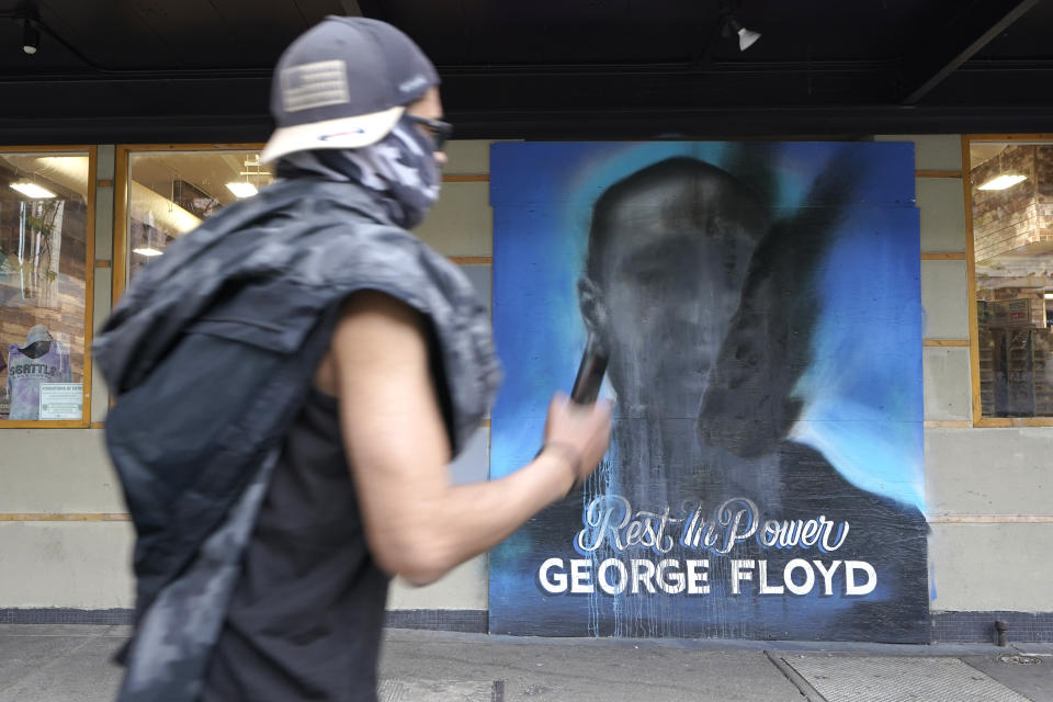
[[383,22],[302,35],[278,181],[170,246],[99,335],[138,537],[122,702],[375,700],[389,578],[435,580],[602,457],[607,406],[557,395],[531,463],[451,483],[499,373],[471,284],[406,231],[439,194],[438,86]]

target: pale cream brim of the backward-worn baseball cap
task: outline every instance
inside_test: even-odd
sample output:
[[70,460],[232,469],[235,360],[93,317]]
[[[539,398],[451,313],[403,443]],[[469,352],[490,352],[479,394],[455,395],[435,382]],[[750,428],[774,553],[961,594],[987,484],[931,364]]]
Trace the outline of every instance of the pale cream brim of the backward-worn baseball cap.
[[260,154],[262,163],[270,163],[293,151],[314,149],[356,149],[376,144],[395,128],[406,107],[399,105],[383,112],[353,117],[312,122],[274,129]]

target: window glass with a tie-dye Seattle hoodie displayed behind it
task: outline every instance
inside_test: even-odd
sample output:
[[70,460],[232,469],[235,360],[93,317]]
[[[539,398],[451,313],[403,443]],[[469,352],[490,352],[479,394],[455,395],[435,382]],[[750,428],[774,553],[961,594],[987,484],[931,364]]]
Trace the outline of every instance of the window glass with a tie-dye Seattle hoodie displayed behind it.
[[0,421],[83,419],[88,167],[0,154]]

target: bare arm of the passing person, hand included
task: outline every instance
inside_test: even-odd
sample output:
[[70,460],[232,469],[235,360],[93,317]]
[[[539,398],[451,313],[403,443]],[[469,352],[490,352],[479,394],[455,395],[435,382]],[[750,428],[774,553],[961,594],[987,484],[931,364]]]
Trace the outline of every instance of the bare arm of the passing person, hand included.
[[591,473],[607,449],[607,407],[557,399],[546,441],[558,446],[499,480],[453,486],[419,314],[381,293],[354,295],[329,362],[371,551],[417,585],[497,545]]

